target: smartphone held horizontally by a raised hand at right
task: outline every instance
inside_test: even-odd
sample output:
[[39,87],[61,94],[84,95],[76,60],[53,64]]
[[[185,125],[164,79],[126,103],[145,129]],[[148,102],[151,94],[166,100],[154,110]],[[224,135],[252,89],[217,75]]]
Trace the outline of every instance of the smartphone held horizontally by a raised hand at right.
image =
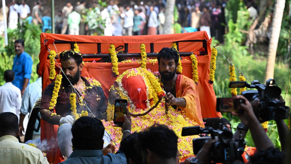
[[217,98],[216,111],[219,112],[236,112],[240,113],[238,106],[239,104],[246,104],[244,99],[235,98]]

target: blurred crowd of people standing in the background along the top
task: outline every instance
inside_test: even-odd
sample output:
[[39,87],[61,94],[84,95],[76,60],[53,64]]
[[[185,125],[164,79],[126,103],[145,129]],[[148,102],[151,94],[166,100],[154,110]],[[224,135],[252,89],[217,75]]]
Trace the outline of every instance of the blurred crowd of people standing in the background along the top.
[[[217,38],[223,42],[223,34],[225,33],[225,11],[226,0],[179,0],[176,1],[178,10],[178,23],[183,27],[180,32],[206,31],[209,37]],[[80,1],[72,4],[70,1],[56,12],[55,15],[55,32],[57,34],[73,34],[73,35],[89,35],[94,33],[93,29],[88,25],[90,19],[85,18],[88,11],[101,11],[99,14],[104,20],[105,26],[97,25],[104,31],[102,35],[121,36],[121,35],[154,35],[163,34],[165,22],[165,0],[145,1],[135,3],[130,1],[127,4],[121,4],[111,0],[107,7],[100,7],[96,2]],[[248,3],[247,7],[251,18],[258,15],[256,8],[252,3]],[[8,14],[8,27],[15,29],[17,23],[26,19],[30,13],[32,22],[36,25],[42,24],[43,6],[41,1],[36,1],[35,6],[30,10],[25,0],[21,5],[17,5],[13,0],[6,12]],[[3,15],[0,12],[0,34],[3,32]],[[19,15],[19,17],[18,17]],[[84,17],[85,16],[85,17]],[[174,23],[174,20],[172,21]]]

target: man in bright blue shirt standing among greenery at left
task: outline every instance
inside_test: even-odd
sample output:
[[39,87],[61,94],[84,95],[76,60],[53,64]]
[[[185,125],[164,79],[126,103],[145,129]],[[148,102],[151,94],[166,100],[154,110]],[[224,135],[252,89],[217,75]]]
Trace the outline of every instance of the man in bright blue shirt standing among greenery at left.
[[15,73],[15,79],[12,81],[12,84],[20,89],[22,96],[25,88],[29,84],[32,71],[32,59],[31,56],[24,51],[24,41],[22,39],[18,39],[14,42],[14,50],[16,56],[13,60],[12,70]]

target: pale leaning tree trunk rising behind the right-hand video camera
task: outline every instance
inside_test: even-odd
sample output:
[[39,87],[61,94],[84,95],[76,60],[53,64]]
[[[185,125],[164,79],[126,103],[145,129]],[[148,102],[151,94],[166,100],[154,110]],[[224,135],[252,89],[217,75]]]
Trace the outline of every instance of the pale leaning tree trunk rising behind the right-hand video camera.
[[272,28],[271,38],[269,41],[269,48],[268,48],[265,81],[269,78],[274,78],[276,52],[278,48],[278,41],[279,41],[279,36],[280,36],[284,8],[285,8],[285,0],[276,0],[273,20],[272,20],[272,27],[271,27]]

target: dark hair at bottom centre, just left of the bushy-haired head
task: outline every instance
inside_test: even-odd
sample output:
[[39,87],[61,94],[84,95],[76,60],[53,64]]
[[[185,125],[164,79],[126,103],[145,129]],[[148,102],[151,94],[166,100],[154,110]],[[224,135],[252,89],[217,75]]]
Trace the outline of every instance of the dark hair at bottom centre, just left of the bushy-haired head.
[[141,154],[139,153],[139,145],[138,145],[138,136],[139,133],[134,132],[131,135],[125,137],[122,139],[120,142],[120,151],[123,151],[126,156],[127,163],[129,163],[129,158],[134,162],[134,163],[142,163],[142,157]]

